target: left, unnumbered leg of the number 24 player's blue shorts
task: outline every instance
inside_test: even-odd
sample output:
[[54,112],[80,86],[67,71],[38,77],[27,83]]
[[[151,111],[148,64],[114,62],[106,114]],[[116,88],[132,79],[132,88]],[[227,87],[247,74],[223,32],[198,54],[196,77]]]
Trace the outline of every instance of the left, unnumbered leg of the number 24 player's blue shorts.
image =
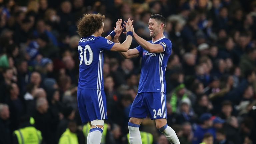
[[138,93],[132,103],[129,117],[134,118],[146,118],[147,116],[147,108],[145,107],[145,103],[143,100],[143,93]]

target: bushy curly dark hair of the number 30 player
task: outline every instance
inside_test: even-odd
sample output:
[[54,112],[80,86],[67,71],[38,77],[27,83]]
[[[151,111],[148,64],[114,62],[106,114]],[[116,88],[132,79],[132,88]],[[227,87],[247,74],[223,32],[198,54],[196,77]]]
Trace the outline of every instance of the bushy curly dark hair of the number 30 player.
[[87,37],[98,31],[102,27],[105,16],[101,14],[84,14],[79,20],[77,29],[81,37]]

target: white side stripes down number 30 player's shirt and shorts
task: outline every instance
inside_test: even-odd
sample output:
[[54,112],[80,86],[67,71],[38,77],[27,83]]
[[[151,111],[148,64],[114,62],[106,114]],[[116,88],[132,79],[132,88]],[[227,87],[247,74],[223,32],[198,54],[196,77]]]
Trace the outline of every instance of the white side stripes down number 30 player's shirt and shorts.
[[101,119],[105,119],[105,111],[103,106],[103,100],[101,95],[101,83],[102,83],[102,69],[103,69],[103,50],[99,54],[99,63],[98,63],[98,77],[97,77],[97,96],[100,107],[100,116]]

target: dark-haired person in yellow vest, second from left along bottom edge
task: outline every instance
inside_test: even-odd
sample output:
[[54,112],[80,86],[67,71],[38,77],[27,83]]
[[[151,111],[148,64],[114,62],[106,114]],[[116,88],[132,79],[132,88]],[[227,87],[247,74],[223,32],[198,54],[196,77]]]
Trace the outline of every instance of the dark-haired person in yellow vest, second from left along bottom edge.
[[76,123],[74,121],[69,122],[68,128],[60,137],[59,144],[79,144],[76,131]]

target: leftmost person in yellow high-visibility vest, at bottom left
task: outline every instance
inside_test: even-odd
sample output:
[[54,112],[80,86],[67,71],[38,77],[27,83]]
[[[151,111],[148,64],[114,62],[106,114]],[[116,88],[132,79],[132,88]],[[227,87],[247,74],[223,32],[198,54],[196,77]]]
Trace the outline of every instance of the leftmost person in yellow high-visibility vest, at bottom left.
[[40,144],[42,135],[32,124],[32,117],[23,117],[21,128],[13,132],[13,144]]

